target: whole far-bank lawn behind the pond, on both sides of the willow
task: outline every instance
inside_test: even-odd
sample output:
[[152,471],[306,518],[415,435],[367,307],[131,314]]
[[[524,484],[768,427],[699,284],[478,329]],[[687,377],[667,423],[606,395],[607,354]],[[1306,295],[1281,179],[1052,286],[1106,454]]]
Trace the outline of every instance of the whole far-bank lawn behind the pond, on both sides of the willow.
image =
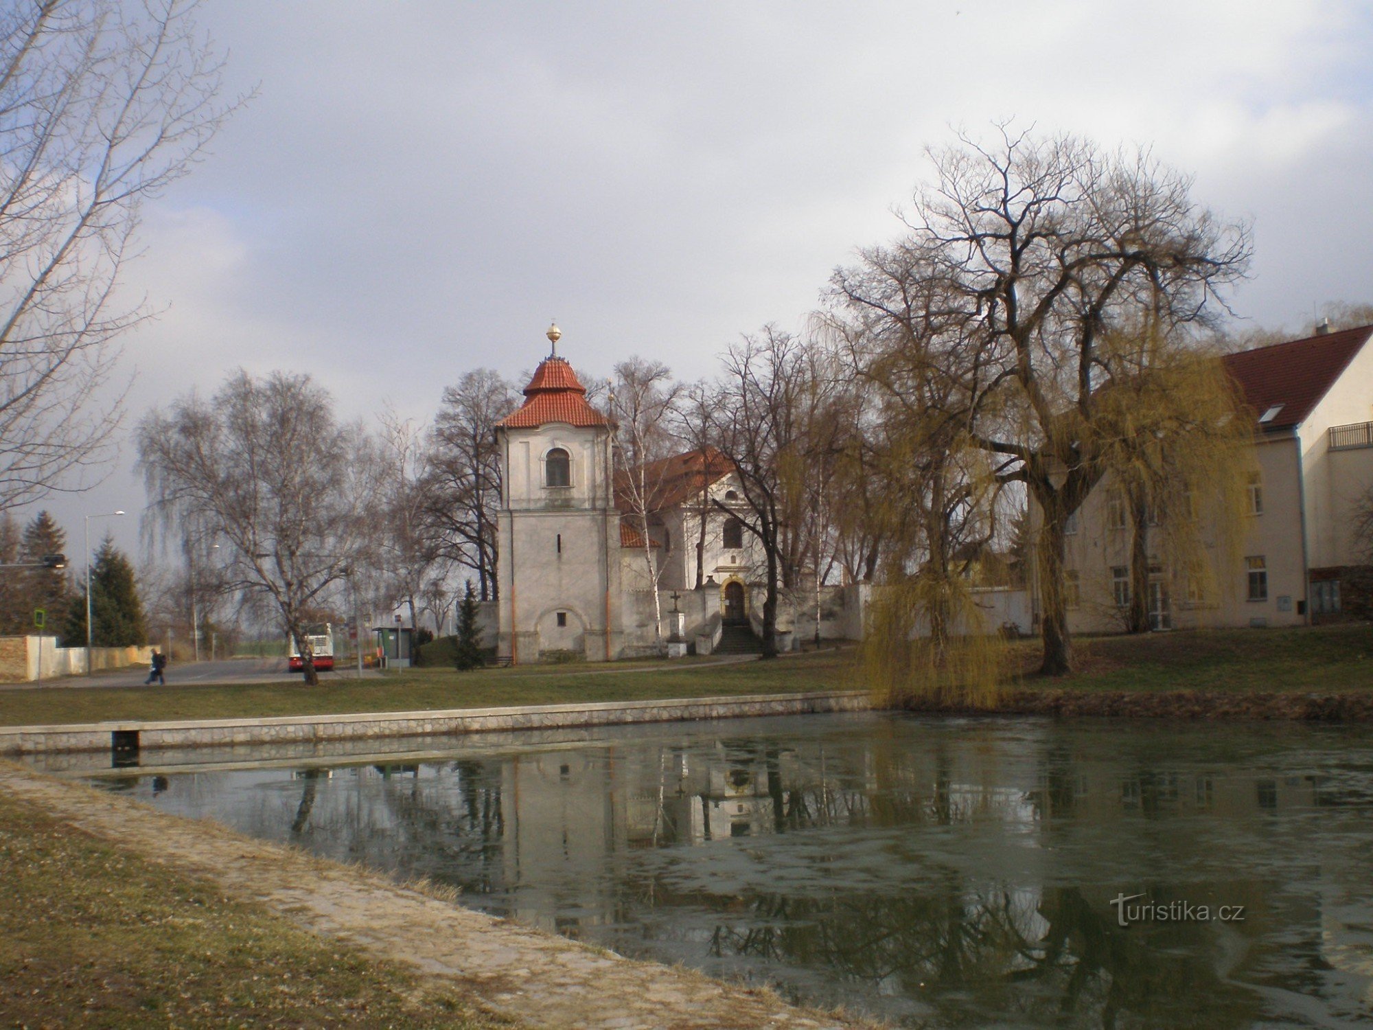
[[[1373,691],[1373,628],[1230,629],[1086,637],[1079,673],[1032,673],[1039,644],[1012,645],[1022,689],[1074,691]],[[0,691],[0,725],[104,720],[243,718],[356,711],[419,711],[508,705],[652,700],[864,688],[857,654],[820,651],[776,662],[522,666],[457,673],[409,669],[383,678],[195,687]]]

